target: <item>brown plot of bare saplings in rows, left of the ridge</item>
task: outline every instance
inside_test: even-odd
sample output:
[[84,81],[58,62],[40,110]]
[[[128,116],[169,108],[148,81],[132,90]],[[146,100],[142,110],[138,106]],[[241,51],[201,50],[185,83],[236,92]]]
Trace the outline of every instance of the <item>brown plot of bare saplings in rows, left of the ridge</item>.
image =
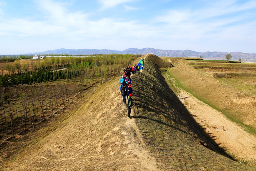
[[50,116],[53,118],[78,101],[82,88],[82,84],[60,84],[38,86],[23,92],[18,87],[1,89],[1,133],[11,131],[15,139],[15,132],[21,128],[19,134],[24,134],[32,125],[34,130],[36,122],[45,121]]

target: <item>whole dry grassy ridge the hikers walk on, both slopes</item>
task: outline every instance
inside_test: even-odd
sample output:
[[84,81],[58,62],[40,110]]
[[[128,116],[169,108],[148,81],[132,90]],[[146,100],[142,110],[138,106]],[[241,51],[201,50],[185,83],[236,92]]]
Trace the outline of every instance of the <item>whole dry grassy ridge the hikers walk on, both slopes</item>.
[[253,170],[229,159],[194,122],[153,62],[160,58],[144,57],[144,70],[131,77],[132,119],[114,78],[45,138],[1,160],[0,169]]

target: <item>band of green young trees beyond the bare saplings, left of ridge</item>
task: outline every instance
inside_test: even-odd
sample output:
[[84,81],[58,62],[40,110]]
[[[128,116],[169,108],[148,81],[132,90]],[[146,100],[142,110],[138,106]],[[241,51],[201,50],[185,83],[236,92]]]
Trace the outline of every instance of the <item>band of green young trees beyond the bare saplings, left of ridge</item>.
[[[131,60],[141,55],[105,55],[97,57],[61,57],[47,58],[37,64],[31,64],[33,71],[28,71],[28,64],[23,65],[23,72],[19,72],[19,61],[14,62],[14,67],[18,73],[12,72],[10,75],[0,75],[0,86],[8,87],[12,85],[23,85],[32,83],[46,83],[47,81],[56,81],[58,79],[74,79],[77,82],[83,83],[85,80],[107,81],[112,78],[112,75],[118,75],[122,68],[130,63]],[[8,63],[6,64],[8,65]],[[24,66],[27,66],[24,67]],[[38,68],[39,67],[39,68]],[[61,70],[62,68],[63,70]]]

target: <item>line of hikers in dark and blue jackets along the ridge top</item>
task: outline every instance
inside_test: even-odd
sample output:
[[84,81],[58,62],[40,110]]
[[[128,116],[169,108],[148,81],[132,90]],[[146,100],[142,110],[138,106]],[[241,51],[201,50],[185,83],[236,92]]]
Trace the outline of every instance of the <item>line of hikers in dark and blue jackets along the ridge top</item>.
[[133,104],[133,99],[131,96],[133,96],[133,89],[131,88],[131,73],[136,74],[137,71],[140,71],[140,67],[136,64],[131,66],[126,66],[126,68],[123,69],[123,75],[120,78],[120,92],[123,97],[123,103],[126,104],[127,100],[127,107],[128,107],[128,118],[131,119],[131,106]]

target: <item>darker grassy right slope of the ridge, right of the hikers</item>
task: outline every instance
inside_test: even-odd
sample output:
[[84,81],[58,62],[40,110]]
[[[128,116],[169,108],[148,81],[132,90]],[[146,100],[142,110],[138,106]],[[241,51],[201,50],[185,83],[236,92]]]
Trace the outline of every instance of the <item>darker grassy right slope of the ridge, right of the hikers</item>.
[[131,115],[159,168],[250,170],[250,167],[230,160],[225,149],[220,148],[193,120],[169,88],[157,64],[151,60],[156,57],[146,55],[143,72],[133,76],[134,107]]

